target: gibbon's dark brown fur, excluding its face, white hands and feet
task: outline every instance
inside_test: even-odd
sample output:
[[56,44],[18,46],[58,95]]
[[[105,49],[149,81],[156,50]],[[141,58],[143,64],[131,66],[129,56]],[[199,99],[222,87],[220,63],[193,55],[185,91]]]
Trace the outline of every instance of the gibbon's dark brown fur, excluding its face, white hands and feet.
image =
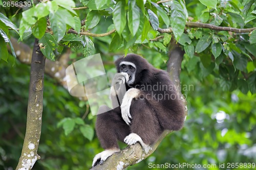
[[[130,88],[140,89],[140,96],[148,96],[146,99],[141,98],[133,100],[130,108],[132,115],[132,124],[129,127],[121,116],[120,107],[108,112],[99,114],[96,121],[96,133],[104,149],[119,148],[117,140],[123,141],[130,133],[138,134],[145,144],[154,143],[163,130],[180,130],[183,127],[185,118],[185,108],[181,96],[178,96],[174,84],[170,81],[166,71],[154,68],[142,57],[135,54],[128,54],[116,61],[117,72],[121,61],[133,62],[136,69],[135,82],[127,85]],[[158,90],[145,88],[150,85],[157,87]],[[164,88],[172,87],[172,89]],[[160,89],[159,86],[163,86]],[[147,95],[146,95],[147,94]],[[158,96],[164,96],[161,99]],[[176,99],[170,99],[174,96]],[[106,109],[106,106],[100,109]]]

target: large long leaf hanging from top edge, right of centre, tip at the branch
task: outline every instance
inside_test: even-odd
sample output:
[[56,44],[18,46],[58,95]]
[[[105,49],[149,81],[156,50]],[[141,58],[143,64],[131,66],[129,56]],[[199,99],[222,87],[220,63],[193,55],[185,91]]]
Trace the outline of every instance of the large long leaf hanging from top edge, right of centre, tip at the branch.
[[172,11],[170,12],[170,25],[172,26],[175,39],[179,41],[185,29],[186,14],[180,3],[177,1],[172,1],[171,4]]

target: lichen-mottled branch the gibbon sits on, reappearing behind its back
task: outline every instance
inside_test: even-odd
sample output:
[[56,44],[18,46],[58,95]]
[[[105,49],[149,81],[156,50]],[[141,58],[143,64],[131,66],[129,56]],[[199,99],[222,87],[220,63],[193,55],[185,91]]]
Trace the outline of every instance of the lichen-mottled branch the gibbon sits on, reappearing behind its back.
[[[168,61],[168,71],[172,71],[170,73],[170,77],[172,80],[174,80],[174,83],[177,87],[179,87],[180,83],[180,70],[181,70],[181,62],[183,59],[184,52],[181,50],[180,47],[177,46],[173,48],[174,50],[169,53],[169,61]],[[181,92],[179,91],[179,94]],[[182,94],[181,94],[182,95]],[[184,99],[184,98],[183,98]],[[186,104],[186,101],[183,100]],[[187,111],[187,110],[186,110]],[[131,145],[123,149],[122,151],[113,154],[111,157],[106,159],[102,165],[98,164],[91,168],[91,170],[100,170],[100,169],[124,169],[130,165],[134,165],[136,163],[139,163],[140,161],[146,159],[148,156],[150,156],[158,147],[160,142],[163,140],[165,136],[167,136],[171,131],[165,130],[161,136],[158,138],[158,140],[151,145],[151,150],[148,153],[145,153],[141,145],[139,143],[136,143],[135,145]]]

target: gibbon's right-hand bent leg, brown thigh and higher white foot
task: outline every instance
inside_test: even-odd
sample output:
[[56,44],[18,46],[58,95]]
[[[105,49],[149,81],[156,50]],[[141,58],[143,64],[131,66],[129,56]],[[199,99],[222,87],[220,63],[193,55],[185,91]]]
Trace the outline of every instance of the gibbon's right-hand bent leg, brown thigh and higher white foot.
[[146,99],[133,100],[130,113],[131,134],[125,137],[124,142],[129,145],[140,142],[143,149],[148,152],[148,145],[154,143],[163,131],[156,113]]

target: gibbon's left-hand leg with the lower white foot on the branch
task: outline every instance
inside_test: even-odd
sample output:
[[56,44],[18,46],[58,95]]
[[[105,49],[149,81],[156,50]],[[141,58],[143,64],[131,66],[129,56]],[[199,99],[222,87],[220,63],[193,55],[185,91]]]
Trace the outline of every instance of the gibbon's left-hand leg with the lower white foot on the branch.
[[[107,106],[100,107],[101,112],[102,109],[109,110]],[[130,133],[129,126],[125,124],[121,113],[117,110],[118,109],[110,110],[97,115],[95,129],[101,147],[105,149],[105,151],[95,155],[92,166],[98,163],[102,164],[106,158],[115,152],[119,152],[120,149],[117,140],[123,141],[124,137]]]

